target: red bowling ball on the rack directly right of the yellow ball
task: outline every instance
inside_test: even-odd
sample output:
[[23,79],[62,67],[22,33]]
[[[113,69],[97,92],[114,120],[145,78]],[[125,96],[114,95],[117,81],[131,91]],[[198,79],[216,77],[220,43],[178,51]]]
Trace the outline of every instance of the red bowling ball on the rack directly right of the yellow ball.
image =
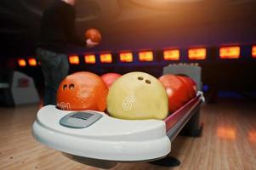
[[185,83],[171,74],[159,77],[159,81],[162,82],[168,94],[168,110],[177,111],[188,99]]

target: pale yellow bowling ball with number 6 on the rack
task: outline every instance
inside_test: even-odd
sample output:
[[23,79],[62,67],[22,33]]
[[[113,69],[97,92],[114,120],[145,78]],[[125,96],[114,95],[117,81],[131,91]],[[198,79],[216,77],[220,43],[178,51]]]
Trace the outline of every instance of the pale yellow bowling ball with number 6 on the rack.
[[168,116],[168,95],[155,77],[130,72],[111,85],[107,111],[120,119],[164,119]]

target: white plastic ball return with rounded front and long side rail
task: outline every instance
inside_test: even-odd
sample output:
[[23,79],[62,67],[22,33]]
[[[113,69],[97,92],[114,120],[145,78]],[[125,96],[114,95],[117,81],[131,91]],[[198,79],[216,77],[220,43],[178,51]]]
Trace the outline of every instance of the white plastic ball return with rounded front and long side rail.
[[171,142],[185,125],[185,133],[200,134],[202,98],[198,93],[165,120],[122,120],[99,111],[62,111],[48,105],[38,111],[32,133],[40,143],[94,167],[155,161],[168,155]]

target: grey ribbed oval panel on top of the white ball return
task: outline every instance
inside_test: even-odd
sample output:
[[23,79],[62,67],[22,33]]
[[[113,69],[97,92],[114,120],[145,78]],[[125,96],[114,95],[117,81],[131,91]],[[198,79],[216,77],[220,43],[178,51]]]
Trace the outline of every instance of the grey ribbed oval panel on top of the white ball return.
[[71,112],[60,119],[60,125],[71,128],[89,127],[94,122],[97,122],[102,117],[102,114],[94,111]]

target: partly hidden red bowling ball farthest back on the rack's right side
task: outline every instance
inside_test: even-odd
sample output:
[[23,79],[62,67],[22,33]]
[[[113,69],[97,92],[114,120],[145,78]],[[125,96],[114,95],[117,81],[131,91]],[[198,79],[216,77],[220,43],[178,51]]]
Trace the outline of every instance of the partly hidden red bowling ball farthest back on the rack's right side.
[[191,80],[190,77],[185,76],[177,76],[182,82],[185,83],[185,87],[187,88],[187,100],[192,99],[196,96],[195,83]]

